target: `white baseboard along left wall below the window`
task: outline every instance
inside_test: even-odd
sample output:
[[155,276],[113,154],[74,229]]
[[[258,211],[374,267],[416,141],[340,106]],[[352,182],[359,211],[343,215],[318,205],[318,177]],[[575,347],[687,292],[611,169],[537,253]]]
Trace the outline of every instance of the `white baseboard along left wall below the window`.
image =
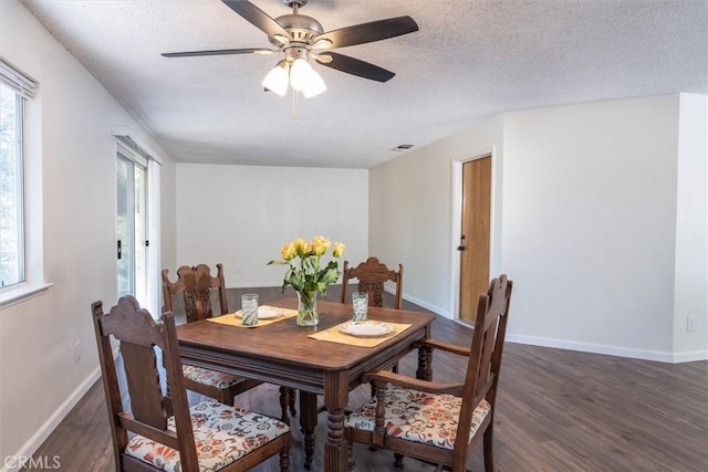
[[[81,382],[79,387],[64,400],[62,405],[52,413],[52,416],[41,426],[41,428],[20,448],[20,450],[12,457],[4,458],[4,463],[1,472],[18,472],[24,464],[21,461],[29,463],[32,454],[42,445],[42,443],[49,438],[49,436],[56,429],[60,422],[69,415],[69,412],[79,403],[84,395],[88,391],[91,386],[101,378],[101,368],[96,367],[88,377]],[[14,459],[14,460],[13,460]],[[54,458],[38,458],[42,461],[46,461],[46,465],[52,466],[56,464]],[[61,463],[61,458],[56,458],[56,461]],[[42,462],[44,463],[44,462]]]

